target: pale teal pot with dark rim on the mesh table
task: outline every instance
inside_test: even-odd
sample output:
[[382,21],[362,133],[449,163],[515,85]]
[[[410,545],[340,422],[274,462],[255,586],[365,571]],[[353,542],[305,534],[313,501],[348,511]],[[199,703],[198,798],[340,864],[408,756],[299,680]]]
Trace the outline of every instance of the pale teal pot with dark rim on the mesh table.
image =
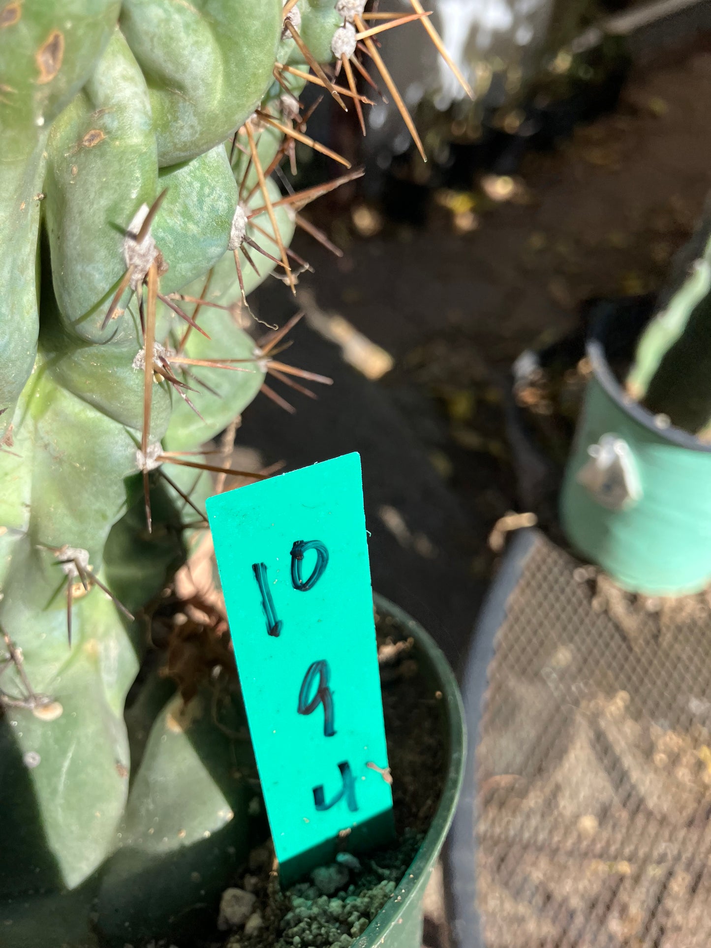
[[588,343],[593,378],[563,481],[563,528],[630,592],[695,593],[711,580],[711,447],[624,392],[606,357],[610,322]]

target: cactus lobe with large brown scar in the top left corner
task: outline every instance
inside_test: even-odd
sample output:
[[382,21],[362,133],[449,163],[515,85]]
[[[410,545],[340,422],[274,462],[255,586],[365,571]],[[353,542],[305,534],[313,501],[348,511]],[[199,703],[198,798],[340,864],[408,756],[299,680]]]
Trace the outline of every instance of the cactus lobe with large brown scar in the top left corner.
[[46,136],[91,75],[118,0],[0,3],[0,434],[32,370],[38,333],[35,276]]

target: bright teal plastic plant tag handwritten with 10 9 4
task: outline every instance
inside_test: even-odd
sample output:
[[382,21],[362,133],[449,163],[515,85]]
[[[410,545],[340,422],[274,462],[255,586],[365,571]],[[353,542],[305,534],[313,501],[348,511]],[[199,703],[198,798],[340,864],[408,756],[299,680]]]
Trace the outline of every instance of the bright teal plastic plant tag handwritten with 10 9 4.
[[393,833],[360,457],[211,497],[208,515],[288,884],[339,835],[357,851]]

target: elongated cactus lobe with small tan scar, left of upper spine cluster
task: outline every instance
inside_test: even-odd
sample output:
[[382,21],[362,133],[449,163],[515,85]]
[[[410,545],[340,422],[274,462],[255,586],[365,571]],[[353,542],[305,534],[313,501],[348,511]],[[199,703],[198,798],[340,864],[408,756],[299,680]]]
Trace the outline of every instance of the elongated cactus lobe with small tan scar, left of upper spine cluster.
[[128,320],[101,329],[125,269],[122,228],[158,191],[148,89],[118,29],[55,122],[48,153],[46,232],[64,325],[92,342],[135,337]]

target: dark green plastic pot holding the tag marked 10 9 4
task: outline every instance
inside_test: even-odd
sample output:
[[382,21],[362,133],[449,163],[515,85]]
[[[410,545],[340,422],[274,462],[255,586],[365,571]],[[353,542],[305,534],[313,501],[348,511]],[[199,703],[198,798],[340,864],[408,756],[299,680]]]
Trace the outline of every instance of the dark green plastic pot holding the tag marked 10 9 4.
[[447,832],[457,807],[466,759],[465,717],[459,687],[442,651],[407,612],[398,609],[382,596],[375,596],[375,607],[381,615],[390,615],[414,639],[415,656],[420,660],[428,683],[442,692],[445,711],[445,732],[442,738],[447,748],[447,773],[439,807],[434,814],[422,846],[397,886],[391,899],[378,912],[353,948],[420,948],[422,945],[422,898],[427,888],[437,857],[445,843]]

